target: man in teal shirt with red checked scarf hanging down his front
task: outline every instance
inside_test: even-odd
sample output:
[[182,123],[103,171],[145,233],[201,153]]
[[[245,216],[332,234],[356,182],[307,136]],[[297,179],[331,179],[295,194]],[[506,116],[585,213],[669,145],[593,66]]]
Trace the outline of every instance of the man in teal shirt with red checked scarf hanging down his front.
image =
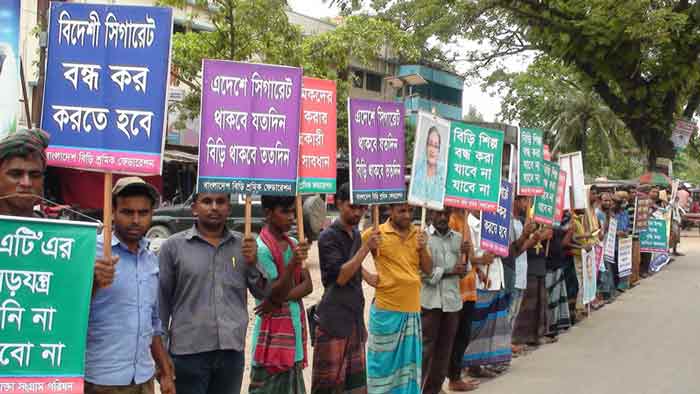
[[250,394],[304,394],[307,365],[306,318],[302,299],[313,291],[302,267],[309,245],[289,237],[294,196],[263,196],[265,227],[258,237],[258,261],[272,283],[271,295],[258,298],[253,329]]

